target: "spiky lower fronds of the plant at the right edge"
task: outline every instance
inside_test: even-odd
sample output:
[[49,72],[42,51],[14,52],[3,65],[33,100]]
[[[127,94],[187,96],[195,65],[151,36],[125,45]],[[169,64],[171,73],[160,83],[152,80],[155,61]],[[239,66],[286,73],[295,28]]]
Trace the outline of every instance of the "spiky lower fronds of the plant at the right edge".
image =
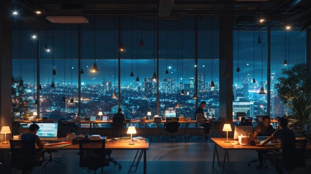
[[288,103],[293,112],[293,116],[289,117],[290,127],[295,130],[306,131],[311,124],[311,96],[300,93]]

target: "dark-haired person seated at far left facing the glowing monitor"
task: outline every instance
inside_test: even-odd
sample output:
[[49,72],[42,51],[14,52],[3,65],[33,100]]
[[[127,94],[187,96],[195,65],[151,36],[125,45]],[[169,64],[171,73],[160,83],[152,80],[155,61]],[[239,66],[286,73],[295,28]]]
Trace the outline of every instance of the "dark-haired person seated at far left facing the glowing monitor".
[[38,153],[36,153],[35,161],[38,161],[42,157],[41,149],[43,149],[44,146],[44,141],[41,142],[40,138],[36,135],[39,128],[37,124],[33,123],[29,126],[29,131],[21,134],[20,137],[21,141],[33,141],[40,148],[40,150],[37,150]]

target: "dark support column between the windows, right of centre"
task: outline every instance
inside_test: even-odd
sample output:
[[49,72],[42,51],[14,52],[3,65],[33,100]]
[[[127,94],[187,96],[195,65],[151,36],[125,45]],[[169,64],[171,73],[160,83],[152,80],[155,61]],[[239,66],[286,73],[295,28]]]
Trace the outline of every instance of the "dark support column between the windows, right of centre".
[[233,17],[219,16],[219,117],[232,123]]

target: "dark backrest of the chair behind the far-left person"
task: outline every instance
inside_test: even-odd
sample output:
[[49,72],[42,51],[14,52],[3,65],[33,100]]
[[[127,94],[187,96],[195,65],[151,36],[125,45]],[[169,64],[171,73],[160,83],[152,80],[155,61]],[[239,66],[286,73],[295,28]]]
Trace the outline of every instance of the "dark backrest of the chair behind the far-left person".
[[35,142],[33,140],[9,140],[11,167],[21,170],[35,166]]

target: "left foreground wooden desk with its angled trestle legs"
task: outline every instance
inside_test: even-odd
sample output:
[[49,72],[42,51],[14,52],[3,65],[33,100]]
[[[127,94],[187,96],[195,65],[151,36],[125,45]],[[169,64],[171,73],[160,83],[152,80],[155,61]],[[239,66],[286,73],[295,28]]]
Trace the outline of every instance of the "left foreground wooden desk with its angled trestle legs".
[[[64,141],[65,138],[59,138],[58,140],[53,140],[53,141]],[[2,141],[3,142],[3,141]],[[3,150],[9,150],[10,149],[10,144],[2,144],[0,142],[0,151],[2,153]],[[44,149],[47,150],[79,150],[79,144],[72,144],[70,146],[66,147],[53,147],[53,146],[44,146]],[[137,169],[139,162],[144,156],[144,174],[147,174],[147,150],[149,150],[149,140],[146,139],[146,143],[135,143],[134,145],[129,145],[129,142],[106,142],[105,143],[105,149],[110,149],[110,150],[137,150],[136,156],[133,160],[133,163],[129,169],[129,172],[133,172],[132,167],[135,167]],[[3,159],[2,159],[3,160]],[[134,172],[136,172],[136,169]]]

